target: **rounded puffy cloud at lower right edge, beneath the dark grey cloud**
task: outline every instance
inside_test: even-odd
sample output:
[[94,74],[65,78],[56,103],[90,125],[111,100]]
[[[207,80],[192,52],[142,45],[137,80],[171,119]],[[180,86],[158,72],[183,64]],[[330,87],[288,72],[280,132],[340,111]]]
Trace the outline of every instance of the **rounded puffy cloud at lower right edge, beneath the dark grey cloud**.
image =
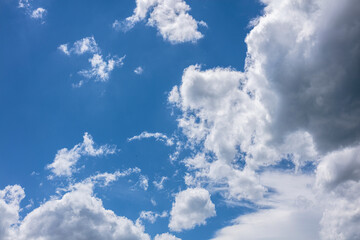
[[321,220],[323,239],[360,237],[360,146],[331,152],[321,159],[316,184],[325,211]]

